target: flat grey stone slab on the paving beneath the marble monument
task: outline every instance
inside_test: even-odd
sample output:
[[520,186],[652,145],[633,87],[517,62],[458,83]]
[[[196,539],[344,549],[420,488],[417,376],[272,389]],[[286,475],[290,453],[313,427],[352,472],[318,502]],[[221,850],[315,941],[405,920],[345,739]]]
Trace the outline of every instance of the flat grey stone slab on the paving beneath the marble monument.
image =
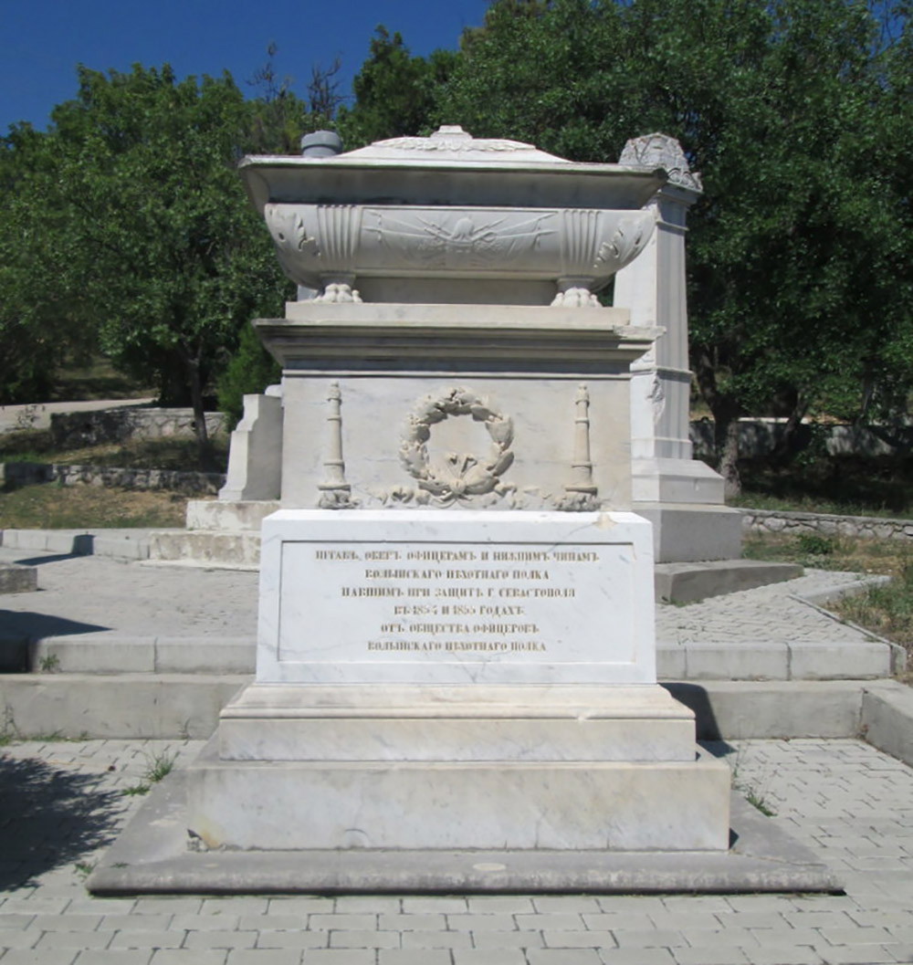
[[155,894],[733,894],[842,885],[816,855],[736,792],[728,852],[192,851],[187,772],[143,804],[88,880],[96,896]]

